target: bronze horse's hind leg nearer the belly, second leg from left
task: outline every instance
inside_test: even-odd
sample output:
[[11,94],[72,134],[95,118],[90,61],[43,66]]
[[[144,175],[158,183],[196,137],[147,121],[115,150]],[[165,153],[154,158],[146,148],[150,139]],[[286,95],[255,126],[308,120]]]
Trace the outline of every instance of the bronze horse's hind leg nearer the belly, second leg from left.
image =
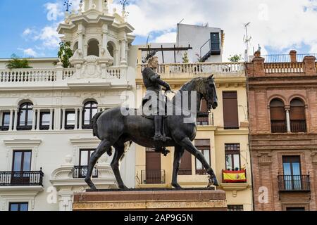
[[125,184],[123,183],[123,180],[120,175],[120,162],[123,160],[125,155],[125,145],[124,143],[115,143],[113,147],[116,149],[115,153],[113,155],[113,160],[111,162],[111,168],[113,170],[113,174],[116,176],[116,181],[118,183],[119,188],[121,189],[128,189]]

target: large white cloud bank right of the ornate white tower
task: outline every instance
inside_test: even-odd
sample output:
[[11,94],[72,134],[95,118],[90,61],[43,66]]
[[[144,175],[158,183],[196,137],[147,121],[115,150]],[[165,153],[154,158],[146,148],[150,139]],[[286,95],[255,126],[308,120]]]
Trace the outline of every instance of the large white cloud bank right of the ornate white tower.
[[[244,53],[244,23],[251,22],[251,46],[268,46],[288,53],[294,46],[310,46],[317,51],[317,0],[139,0],[128,6],[128,22],[135,34],[166,32],[182,23],[220,27],[225,32],[224,60],[235,53]],[[252,47],[251,47],[252,50]]]

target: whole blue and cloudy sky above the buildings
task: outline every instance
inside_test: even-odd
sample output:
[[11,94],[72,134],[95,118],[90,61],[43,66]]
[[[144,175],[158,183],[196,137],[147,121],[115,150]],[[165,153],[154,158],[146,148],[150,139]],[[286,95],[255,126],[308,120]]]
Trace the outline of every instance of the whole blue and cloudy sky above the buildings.
[[[77,10],[80,0],[70,0]],[[225,32],[223,60],[244,53],[244,24],[250,23],[250,50],[261,53],[317,53],[317,0],[130,0],[132,44],[175,42],[176,25],[220,27]],[[112,8],[120,11],[119,1]],[[63,0],[0,0],[0,58],[56,57]]]

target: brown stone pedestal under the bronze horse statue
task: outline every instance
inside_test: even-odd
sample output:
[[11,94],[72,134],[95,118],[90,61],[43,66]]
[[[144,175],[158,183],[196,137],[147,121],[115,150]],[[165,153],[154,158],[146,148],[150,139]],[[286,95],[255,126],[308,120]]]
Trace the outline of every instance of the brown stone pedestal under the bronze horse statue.
[[99,190],[74,195],[73,211],[226,211],[225,191],[206,188]]

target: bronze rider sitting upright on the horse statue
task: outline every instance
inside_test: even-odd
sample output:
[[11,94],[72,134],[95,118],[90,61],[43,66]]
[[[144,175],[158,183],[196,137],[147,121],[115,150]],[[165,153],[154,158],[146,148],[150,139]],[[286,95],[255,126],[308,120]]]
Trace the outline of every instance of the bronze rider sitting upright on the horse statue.
[[165,88],[165,91],[171,91],[171,89],[170,84],[161,80],[160,75],[155,72],[158,67],[159,60],[157,56],[153,56],[149,59],[148,67],[142,72],[144,86],[147,89],[144,101],[149,101],[149,98],[153,98],[153,94],[155,93],[156,99],[151,99],[151,113],[154,115],[155,125],[154,141],[166,141],[161,134],[163,115],[159,115],[159,112],[160,110],[165,112],[166,104],[165,96],[162,94],[162,86]]

